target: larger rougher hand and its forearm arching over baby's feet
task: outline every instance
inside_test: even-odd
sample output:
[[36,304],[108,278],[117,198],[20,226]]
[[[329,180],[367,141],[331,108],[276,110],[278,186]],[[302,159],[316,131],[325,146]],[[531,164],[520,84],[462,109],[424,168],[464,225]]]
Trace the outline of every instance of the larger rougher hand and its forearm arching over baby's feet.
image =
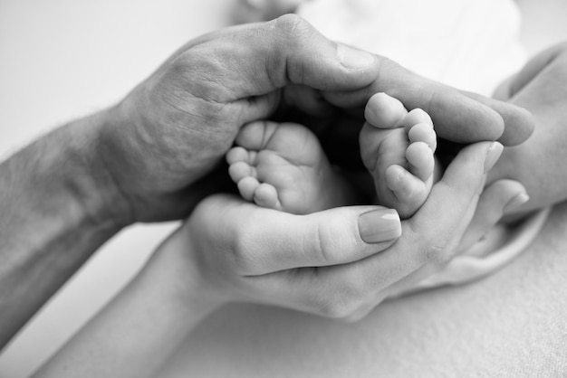
[[[532,132],[522,109],[482,99],[486,107],[392,61],[332,43],[297,16],[199,37],[119,104],[0,166],[0,211],[9,214],[0,227],[0,345],[123,227],[187,217],[215,193],[212,173],[239,128],[276,110],[293,113],[285,95],[292,86],[319,93],[337,110],[327,114],[332,128],[374,92],[391,91],[408,108],[427,110],[440,137],[508,143]],[[295,110],[313,113],[312,106]],[[507,121],[516,118],[523,122]]]

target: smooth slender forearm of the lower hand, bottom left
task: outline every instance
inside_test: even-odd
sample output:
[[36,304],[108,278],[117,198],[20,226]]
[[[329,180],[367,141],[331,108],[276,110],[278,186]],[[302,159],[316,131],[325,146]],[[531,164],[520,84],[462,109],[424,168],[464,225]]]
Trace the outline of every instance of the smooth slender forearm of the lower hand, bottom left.
[[220,301],[209,296],[176,232],[109,305],[45,364],[38,377],[154,377]]

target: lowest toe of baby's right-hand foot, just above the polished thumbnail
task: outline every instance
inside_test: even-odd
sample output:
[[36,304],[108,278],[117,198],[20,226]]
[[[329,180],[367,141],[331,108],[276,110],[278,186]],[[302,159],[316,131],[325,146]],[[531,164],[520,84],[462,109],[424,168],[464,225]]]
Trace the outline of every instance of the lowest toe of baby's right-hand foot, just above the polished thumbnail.
[[398,200],[394,207],[404,219],[416,213],[428,197],[426,184],[399,165],[388,167],[385,180]]

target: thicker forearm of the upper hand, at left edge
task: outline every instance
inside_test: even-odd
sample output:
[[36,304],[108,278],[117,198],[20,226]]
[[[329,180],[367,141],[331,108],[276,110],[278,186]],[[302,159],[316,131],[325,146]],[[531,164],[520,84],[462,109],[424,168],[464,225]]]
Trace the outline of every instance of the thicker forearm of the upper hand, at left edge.
[[0,347],[123,225],[97,158],[106,121],[72,122],[0,165]]

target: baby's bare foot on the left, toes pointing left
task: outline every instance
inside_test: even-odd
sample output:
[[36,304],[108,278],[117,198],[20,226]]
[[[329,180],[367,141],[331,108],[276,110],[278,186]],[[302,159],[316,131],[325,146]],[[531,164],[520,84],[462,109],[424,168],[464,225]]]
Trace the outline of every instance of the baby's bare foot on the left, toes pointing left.
[[245,125],[226,154],[228,173],[248,201],[288,213],[350,204],[349,185],[332,170],[319,140],[302,125]]

